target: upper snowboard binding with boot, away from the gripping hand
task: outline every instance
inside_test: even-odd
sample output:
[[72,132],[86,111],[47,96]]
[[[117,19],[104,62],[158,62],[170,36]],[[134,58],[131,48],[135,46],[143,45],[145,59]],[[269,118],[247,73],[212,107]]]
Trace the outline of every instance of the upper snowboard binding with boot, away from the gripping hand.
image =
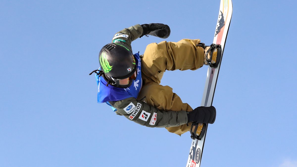
[[213,43],[210,46],[205,46],[204,43],[198,43],[196,46],[200,46],[204,49],[204,64],[209,65],[212,68],[217,68],[221,60],[221,45]]

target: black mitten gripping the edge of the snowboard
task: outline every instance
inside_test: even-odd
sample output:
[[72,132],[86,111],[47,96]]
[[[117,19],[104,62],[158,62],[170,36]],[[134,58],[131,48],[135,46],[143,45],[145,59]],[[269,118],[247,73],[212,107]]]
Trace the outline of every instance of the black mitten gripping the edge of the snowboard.
[[187,112],[188,122],[213,124],[216,120],[216,108],[197,107],[191,112]]

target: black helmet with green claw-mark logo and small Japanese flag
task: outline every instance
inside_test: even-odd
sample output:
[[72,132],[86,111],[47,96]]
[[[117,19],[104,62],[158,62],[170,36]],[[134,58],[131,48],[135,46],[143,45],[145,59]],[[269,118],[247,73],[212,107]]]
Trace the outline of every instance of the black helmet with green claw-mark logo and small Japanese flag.
[[105,45],[99,52],[99,63],[105,79],[117,87],[126,88],[132,84],[132,82],[124,86],[119,84],[119,80],[131,77],[136,70],[134,55],[124,45],[119,43]]

